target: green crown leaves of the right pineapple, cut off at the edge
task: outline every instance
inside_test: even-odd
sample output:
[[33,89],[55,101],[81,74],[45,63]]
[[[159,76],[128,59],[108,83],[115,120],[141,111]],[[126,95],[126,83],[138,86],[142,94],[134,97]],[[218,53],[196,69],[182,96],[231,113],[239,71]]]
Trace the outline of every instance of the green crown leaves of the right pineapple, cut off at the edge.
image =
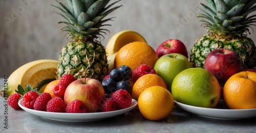
[[256,10],[256,0],[205,0],[205,2],[207,5],[201,3],[201,6],[207,11],[199,8],[203,14],[199,14],[198,17],[205,18],[201,21],[211,34],[243,36],[249,33],[251,26],[256,26],[254,24],[256,15],[249,16]]

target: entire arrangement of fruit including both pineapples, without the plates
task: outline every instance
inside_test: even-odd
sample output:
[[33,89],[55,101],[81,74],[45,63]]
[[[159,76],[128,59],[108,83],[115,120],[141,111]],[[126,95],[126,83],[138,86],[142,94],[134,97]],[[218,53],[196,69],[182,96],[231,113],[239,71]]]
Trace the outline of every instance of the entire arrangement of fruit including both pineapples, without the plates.
[[[223,98],[229,109],[256,109],[256,47],[246,37],[256,16],[255,1],[206,1],[208,34],[200,37],[190,54],[178,39],[167,39],[154,50],[139,33],[124,30],[106,49],[103,19],[121,6],[110,1],[58,2],[71,41],[58,61],[38,60],[14,71],[9,78],[8,104],[59,113],[97,113],[122,110],[138,101],[148,120],[161,120],[174,102],[216,108]],[[88,3],[86,3],[88,2]],[[108,5],[108,6],[106,6]],[[202,10],[202,9],[201,9]],[[25,88],[26,87],[26,88]],[[35,89],[33,89],[35,88]]]

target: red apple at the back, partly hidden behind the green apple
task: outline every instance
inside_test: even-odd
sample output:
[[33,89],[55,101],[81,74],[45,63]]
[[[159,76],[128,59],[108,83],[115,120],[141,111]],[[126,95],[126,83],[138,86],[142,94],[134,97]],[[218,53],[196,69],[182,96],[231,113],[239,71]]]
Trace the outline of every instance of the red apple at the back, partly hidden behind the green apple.
[[156,50],[158,58],[166,54],[178,53],[188,58],[187,48],[178,39],[168,39],[161,43]]

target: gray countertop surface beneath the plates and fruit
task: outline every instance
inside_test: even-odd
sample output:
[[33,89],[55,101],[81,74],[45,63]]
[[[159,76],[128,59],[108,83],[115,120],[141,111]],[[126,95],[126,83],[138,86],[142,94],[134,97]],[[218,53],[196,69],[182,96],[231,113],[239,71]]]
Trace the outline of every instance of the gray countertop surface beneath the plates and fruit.
[[[3,86],[3,78],[0,78],[0,88]],[[256,118],[216,120],[188,113],[178,107],[160,121],[147,120],[138,109],[134,109],[100,121],[59,122],[24,110],[5,108],[5,104],[5,99],[0,97],[0,132],[256,132]]]

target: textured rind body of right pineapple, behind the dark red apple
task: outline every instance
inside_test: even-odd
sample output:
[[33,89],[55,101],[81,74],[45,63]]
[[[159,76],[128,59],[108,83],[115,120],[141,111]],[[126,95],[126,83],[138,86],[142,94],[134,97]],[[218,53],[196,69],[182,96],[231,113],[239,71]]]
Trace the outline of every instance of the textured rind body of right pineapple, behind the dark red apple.
[[201,36],[192,47],[189,60],[194,67],[204,68],[204,61],[209,52],[218,48],[235,51],[241,58],[243,69],[256,66],[256,46],[247,37],[225,40],[209,35]]

